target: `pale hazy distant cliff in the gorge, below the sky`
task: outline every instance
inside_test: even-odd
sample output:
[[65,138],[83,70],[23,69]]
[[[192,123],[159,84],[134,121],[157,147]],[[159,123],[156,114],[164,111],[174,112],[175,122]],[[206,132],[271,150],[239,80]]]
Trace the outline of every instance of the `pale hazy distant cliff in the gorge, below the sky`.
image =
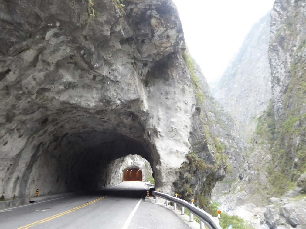
[[215,98],[230,112],[241,138],[248,141],[271,100],[268,60],[270,13],[253,25],[237,56],[220,79]]

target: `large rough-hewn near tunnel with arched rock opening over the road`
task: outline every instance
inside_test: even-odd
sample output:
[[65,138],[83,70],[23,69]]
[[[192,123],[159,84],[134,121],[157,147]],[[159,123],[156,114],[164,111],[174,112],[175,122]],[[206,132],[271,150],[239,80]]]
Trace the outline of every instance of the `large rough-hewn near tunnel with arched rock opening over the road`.
[[[129,154],[146,159],[154,174],[154,146],[144,137],[143,125],[135,114],[133,119],[130,112],[122,112],[103,119],[81,116],[58,122],[49,117],[45,122],[40,136],[32,137],[29,145],[33,153],[28,169],[18,179],[23,181],[19,195],[33,196],[36,189],[45,195],[110,185],[116,170],[110,169],[110,163]],[[43,139],[47,140],[35,144]],[[142,171],[137,170],[134,173],[132,169],[133,175],[124,180],[141,181]]]

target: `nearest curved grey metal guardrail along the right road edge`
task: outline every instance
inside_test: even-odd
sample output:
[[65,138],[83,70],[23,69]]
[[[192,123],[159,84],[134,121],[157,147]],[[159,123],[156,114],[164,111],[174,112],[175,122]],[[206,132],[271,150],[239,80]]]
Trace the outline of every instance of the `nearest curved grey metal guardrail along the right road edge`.
[[209,229],[222,229],[220,225],[217,223],[217,221],[210,214],[204,212],[202,209],[194,206],[193,204],[190,204],[183,199],[176,198],[157,191],[152,191],[152,194],[155,196],[156,202],[157,202],[157,197],[161,197],[163,199],[166,199],[166,205],[167,205],[167,200],[174,202],[175,204],[181,205],[182,214],[184,211],[183,209],[187,208],[190,213],[198,217],[201,220],[201,222],[203,222]]

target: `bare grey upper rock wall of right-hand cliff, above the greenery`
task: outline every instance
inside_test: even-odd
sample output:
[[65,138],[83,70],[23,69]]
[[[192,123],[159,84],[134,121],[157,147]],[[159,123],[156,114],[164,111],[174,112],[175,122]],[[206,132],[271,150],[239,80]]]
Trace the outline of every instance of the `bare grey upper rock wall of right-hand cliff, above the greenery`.
[[[305,42],[305,12],[305,1],[281,0],[275,1],[271,12],[269,60],[272,74],[274,116],[277,125],[284,118],[282,114],[289,113],[288,110],[292,109],[297,103],[295,101],[297,99],[296,95],[292,95],[291,99],[286,101],[286,104],[284,104],[284,99],[294,74],[294,62],[298,61],[303,64],[305,60],[305,48],[303,47]],[[299,110],[301,113],[305,113],[304,106],[300,106]]]

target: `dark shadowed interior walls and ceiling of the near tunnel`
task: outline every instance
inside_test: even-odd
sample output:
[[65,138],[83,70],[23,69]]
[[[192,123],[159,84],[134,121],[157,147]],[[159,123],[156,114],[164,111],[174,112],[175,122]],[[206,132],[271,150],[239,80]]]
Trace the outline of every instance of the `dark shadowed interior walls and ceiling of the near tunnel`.
[[[32,172],[28,175],[28,187],[31,190],[27,191],[31,194],[36,189],[44,195],[103,187],[112,176],[110,162],[129,154],[146,159],[154,174],[152,147],[135,126],[126,134],[120,126],[99,129],[83,123],[69,131],[61,131],[61,128],[67,129],[59,127],[30,159]],[[142,180],[141,170],[125,179]]]

